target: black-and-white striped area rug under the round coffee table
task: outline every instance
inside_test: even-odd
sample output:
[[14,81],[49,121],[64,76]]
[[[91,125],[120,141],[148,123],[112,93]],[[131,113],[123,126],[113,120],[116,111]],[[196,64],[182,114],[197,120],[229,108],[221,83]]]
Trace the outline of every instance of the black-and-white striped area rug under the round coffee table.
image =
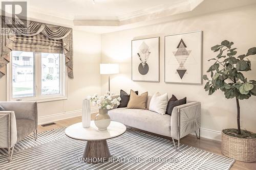
[[16,144],[13,161],[8,163],[7,150],[0,149],[0,169],[229,169],[234,160],[181,144],[175,151],[172,141],[127,130],[109,139],[112,158],[98,164],[82,161],[86,141],[65,135],[66,128],[28,136]]

